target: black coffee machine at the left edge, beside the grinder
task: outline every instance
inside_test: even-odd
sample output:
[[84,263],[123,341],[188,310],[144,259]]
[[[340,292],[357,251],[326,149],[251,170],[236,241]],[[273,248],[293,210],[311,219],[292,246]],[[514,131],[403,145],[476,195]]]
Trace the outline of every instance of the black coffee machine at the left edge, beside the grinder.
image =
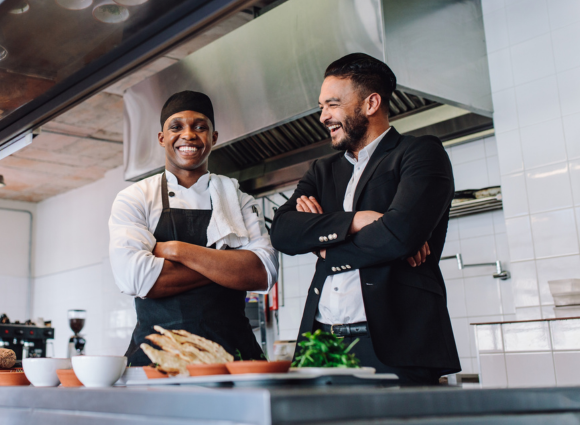
[[16,353],[16,359],[46,357],[48,340],[54,339],[54,328],[0,323],[0,348]]

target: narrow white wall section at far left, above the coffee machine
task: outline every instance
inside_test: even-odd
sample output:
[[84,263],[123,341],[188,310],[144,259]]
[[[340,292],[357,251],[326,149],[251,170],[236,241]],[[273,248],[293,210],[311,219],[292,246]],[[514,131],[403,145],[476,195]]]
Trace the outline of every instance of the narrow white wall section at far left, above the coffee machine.
[[34,217],[36,204],[0,200],[0,314],[6,313],[12,322],[21,323],[30,319],[28,212]]

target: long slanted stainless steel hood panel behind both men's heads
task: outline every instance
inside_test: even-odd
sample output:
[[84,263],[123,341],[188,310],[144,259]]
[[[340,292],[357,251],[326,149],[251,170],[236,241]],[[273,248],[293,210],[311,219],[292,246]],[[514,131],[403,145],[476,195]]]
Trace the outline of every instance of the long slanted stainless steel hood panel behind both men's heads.
[[352,52],[383,59],[379,0],[288,1],[133,86],[125,101],[125,179],[164,165],[159,115],[181,90],[207,93],[218,145],[310,115],[328,64]]

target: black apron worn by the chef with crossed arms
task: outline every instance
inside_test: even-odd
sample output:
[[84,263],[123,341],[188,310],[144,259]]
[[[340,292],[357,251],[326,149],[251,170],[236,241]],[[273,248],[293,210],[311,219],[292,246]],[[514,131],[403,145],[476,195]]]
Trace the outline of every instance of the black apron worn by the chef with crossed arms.
[[[161,178],[163,212],[153,235],[157,242],[181,241],[205,247],[212,210],[184,210],[169,207],[167,178]],[[236,360],[259,360],[262,350],[245,315],[246,292],[210,283],[171,297],[135,298],[137,326],[125,355],[131,366],[151,364],[139,347],[145,337],[165,329],[184,329],[217,342]],[[147,342],[150,343],[150,342]],[[152,344],[152,343],[150,343]],[[158,347],[156,347],[158,348]]]

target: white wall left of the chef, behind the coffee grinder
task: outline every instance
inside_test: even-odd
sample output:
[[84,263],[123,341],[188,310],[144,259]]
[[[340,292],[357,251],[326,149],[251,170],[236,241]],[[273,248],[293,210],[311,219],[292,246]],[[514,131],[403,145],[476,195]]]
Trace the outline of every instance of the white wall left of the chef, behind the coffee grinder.
[[87,354],[123,354],[135,325],[133,298],[115,286],[108,258],[108,219],[117,193],[130,183],[122,168],[37,206],[34,317],[51,319],[55,356],[72,335],[67,310],[86,309],[81,332]]

